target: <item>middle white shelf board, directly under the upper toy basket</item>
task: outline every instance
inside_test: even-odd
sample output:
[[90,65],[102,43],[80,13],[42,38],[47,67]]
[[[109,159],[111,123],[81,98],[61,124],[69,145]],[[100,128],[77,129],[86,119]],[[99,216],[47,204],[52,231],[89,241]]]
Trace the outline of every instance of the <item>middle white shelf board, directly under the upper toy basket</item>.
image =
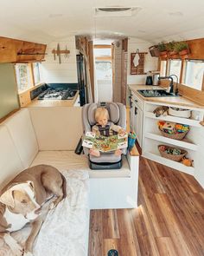
[[194,143],[169,139],[167,137],[164,137],[163,135],[155,135],[155,134],[151,134],[151,133],[145,133],[144,137],[149,138],[151,140],[162,141],[163,143],[168,143],[171,145],[175,145],[175,146],[182,147],[182,148],[187,148],[187,149],[194,150],[194,151],[197,151],[197,149],[198,149],[198,146],[195,145]]

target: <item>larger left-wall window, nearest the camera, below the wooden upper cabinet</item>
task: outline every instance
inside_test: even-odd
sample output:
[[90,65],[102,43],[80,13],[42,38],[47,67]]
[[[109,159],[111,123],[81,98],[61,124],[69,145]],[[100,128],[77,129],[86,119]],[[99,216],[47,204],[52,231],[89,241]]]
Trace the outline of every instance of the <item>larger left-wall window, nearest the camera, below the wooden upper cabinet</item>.
[[32,87],[31,75],[30,75],[30,64],[16,64],[16,82],[18,91],[22,92]]

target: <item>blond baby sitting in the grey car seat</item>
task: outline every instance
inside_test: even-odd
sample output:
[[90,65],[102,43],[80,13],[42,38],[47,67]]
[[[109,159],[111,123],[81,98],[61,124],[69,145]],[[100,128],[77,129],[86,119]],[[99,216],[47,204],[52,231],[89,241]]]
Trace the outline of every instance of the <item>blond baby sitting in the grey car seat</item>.
[[[96,108],[95,111],[95,120],[97,123],[92,126],[92,133],[96,135],[103,135],[103,136],[112,136],[112,135],[124,135],[124,129],[118,125],[115,125],[112,121],[109,120],[108,110],[106,108]],[[100,152],[97,149],[90,149],[89,154],[94,156],[100,156]],[[116,155],[122,154],[120,149],[115,151]]]

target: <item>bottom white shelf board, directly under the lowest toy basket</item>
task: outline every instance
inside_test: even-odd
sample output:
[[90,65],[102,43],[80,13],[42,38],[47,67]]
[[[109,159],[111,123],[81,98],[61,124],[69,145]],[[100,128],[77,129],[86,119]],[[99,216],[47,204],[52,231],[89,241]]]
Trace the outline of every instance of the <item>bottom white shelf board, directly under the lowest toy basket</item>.
[[185,174],[194,175],[194,167],[186,167],[181,162],[172,161],[167,158],[162,157],[161,155],[150,153],[150,152],[143,152],[143,157],[148,158],[152,161],[159,162],[165,166],[172,167],[176,170],[179,170]]

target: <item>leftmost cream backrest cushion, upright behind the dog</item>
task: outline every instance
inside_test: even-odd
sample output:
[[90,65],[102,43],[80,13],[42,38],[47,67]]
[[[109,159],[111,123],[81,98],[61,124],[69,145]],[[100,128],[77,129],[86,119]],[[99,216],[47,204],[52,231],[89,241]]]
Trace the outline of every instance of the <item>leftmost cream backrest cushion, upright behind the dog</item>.
[[0,188],[22,171],[22,161],[10,137],[8,129],[0,126]]

